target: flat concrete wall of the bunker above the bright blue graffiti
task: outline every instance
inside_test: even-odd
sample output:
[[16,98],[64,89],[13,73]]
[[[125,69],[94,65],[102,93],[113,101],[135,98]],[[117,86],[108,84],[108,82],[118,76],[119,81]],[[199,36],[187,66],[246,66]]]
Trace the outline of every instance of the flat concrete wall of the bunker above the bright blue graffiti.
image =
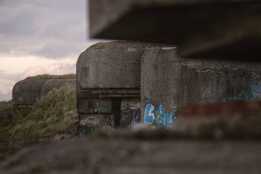
[[141,61],[141,113],[148,103],[174,106],[261,99],[261,64],[179,58],[175,47],[151,47]]

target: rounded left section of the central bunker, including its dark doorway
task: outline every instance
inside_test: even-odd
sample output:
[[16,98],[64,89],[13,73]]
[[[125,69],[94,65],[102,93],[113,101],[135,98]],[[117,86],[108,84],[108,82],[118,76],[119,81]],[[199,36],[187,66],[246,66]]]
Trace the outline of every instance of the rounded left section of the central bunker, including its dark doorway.
[[[122,111],[129,111],[126,107],[139,110],[141,57],[152,45],[127,41],[96,43],[80,54],[76,74],[81,126],[119,127]],[[106,125],[102,124],[102,116]],[[112,121],[108,122],[107,116]]]

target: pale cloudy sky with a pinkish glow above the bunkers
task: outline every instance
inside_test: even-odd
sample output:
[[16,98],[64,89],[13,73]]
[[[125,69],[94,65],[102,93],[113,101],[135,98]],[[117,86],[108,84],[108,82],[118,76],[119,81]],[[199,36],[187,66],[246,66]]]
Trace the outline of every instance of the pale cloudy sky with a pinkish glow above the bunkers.
[[0,100],[27,76],[76,73],[88,39],[85,0],[0,0]]

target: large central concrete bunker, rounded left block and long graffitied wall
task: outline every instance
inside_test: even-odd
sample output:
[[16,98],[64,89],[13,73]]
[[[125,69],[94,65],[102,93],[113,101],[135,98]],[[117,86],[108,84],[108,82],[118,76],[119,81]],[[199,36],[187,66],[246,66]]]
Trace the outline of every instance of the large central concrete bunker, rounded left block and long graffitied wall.
[[148,103],[174,107],[261,99],[260,63],[179,58],[176,47],[117,41],[96,43],[77,62],[79,124],[128,128]]

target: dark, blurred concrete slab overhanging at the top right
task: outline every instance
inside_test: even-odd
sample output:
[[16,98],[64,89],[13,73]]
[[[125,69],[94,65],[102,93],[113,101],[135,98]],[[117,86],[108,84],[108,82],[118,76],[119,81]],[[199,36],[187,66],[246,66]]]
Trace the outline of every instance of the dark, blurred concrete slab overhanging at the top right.
[[181,57],[260,61],[261,1],[89,3],[92,38],[174,44]]

